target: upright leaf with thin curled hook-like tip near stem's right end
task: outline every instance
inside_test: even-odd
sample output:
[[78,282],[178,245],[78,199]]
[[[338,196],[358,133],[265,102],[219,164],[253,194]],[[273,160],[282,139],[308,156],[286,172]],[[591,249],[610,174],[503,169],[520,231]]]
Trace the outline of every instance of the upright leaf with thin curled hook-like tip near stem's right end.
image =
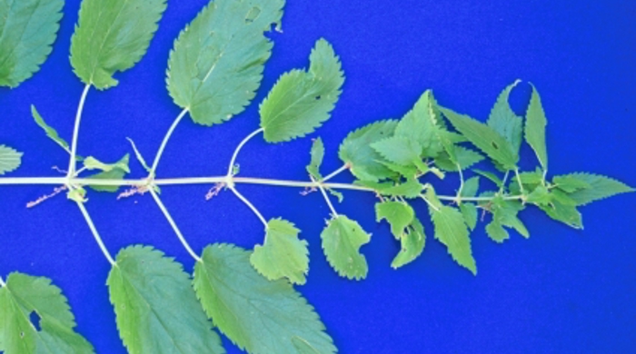
[[512,152],[514,152],[515,156],[519,156],[519,148],[522,146],[523,118],[512,111],[508,98],[512,89],[519,83],[519,80],[515,81],[499,94],[497,102],[492,107],[491,115],[486,122],[488,126],[511,144]]

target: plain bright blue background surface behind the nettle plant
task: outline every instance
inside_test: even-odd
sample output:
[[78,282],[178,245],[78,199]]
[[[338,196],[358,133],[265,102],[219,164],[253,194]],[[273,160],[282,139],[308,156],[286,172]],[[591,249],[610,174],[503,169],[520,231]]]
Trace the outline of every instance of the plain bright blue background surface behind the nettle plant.
[[[171,1],[141,64],[118,74],[121,84],[91,91],[79,152],[114,161],[130,152],[125,137],[152,160],[180,109],[164,87],[168,53],[205,0]],[[33,123],[29,105],[70,139],[83,84],[68,61],[79,9],[67,0],[54,52],[18,89],[0,90],[0,142],[24,151],[13,176],[56,176],[67,155]],[[551,172],[599,172],[636,185],[636,3],[626,1],[289,1],[283,34],[272,34],[273,57],[249,109],[204,128],[184,121],[174,133],[159,177],[223,174],[234,147],[258,126],[257,103],[284,71],[307,65],[315,40],[327,38],[347,79],[333,118],[312,137],[327,147],[324,172],[341,164],[337,147],[356,127],[401,117],[427,88],[444,105],[485,120],[502,88],[517,78],[536,84],[548,115]],[[522,108],[527,84],[512,95]],[[305,180],[309,139],[249,143],[239,157],[243,176]],[[534,158],[523,148],[522,167]],[[144,176],[132,163],[133,176]],[[338,181],[351,181],[343,175]],[[442,182],[449,192],[454,180]],[[482,183],[486,186],[486,183]],[[0,272],[50,277],[70,300],[78,330],[100,353],[122,353],[104,282],[109,270],[75,205],[64,196],[33,209],[25,203],[47,186],[2,187]],[[261,223],[229,192],[205,202],[207,186],[165,187],[164,202],[196,251],[216,241],[251,248]],[[328,209],[321,196],[241,185],[266,218],[283,216],[310,242],[311,271],[299,289],[318,310],[343,353],[634,352],[636,351],[636,215],[633,195],[583,208],[584,231],[529,209],[532,233],[498,245],[482,227],[472,234],[479,274],[455,265],[432,238],[422,257],[401,270],[386,224],[373,218],[373,196],[347,192],[339,211],[373,233],[363,247],[367,280],[340,279],[325,261],[319,234]],[[108,248],[154,245],[192,270],[193,260],[149,196],[115,201],[92,192],[87,204]],[[418,212],[425,217],[422,204]],[[238,352],[224,339],[230,352]]]

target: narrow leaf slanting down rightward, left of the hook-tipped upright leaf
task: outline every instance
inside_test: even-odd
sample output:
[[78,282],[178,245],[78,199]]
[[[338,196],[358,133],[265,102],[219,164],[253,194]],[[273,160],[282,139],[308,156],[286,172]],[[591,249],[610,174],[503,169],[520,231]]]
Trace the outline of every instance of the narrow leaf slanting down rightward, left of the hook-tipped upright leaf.
[[519,161],[519,156],[514,152],[512,144],[506,141],[500,133],[468,115],[454,113],[445,108],[442,108],[441,111],[455,129],[462,133],[473,145],[477,146],[495,162],[502,164],[503,168],[514,169]]

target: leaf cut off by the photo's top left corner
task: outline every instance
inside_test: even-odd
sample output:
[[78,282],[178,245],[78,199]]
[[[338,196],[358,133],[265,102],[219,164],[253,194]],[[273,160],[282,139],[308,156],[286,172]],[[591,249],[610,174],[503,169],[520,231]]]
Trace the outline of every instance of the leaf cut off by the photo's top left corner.
[[63,0],[0,2],[0,86],[16,87],[51,54]]

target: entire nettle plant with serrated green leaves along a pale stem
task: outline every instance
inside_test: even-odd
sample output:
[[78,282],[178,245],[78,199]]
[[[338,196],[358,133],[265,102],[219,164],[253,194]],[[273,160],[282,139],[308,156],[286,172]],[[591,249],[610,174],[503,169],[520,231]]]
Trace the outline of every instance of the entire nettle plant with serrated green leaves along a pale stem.
[[[50,53],[63,0],[7,4],[0,4],[0,84],[15,87],[34,74]],[[388,222],[402,246],[393,268],[417,259],[429,233],[447,247],[454,261],[473,274],[477,266],[470,233],[480,219],[488,220],[485,230],[496,242],[508,239],[509,229],[529,237],[518,218],[527,207],[537,207],[556,221],[582,228],[580,206],[632,192],[621,182],[591,173],[549,177],[547,122],[539,93],[532,86],[525,117],[514,113],[508,103],[519,82],[503,90],[486,123],[444,108],[432,91],[426,91],[402,119],[371,123],[349,133],[339,148],[343,167],[334,172],[321,172],[324,146],[316,138],[306,166],[307,181],[237,176],[239,152],[254,137],[263,135],[268,143],[288,142],[313,133],[330,118],[342,92],[344,74],[332,45],[323,39],[315,43],[307,69],[293,69],[273,85],[260,103],[261,126],[238,145],[224,175],[157,178],[155,171],[164,149],[186,116],[194,123],[213,126],[242,113],[253,100],[273,47],[265,34],[273,26],[280,28],[283,5],[283,0],[216,0],[184,28],[174,42],[166,80],[170,96],[183,111],[165,134],[152,163],[146,163],[131,141],[134,157],[147,176],[125,179],[129,154],[118,162],[106,163],[77,153],[84,103],[91,88],[113,88],[118,84],[114,74],[142,59],[166,3],[84,0],[72,39],[71,64],[85,89],[71,143],[45,123],[32,106],[35,123],[69,153],[66,175],[0,179],[4,185],[56,185],[53,195],[32,205],[65,193],[82,211],[112,265],[107,280],[110,300],[120,336],[131,353],[222,353],[214,329],[252,353],[337,351],[313,307],[293,288],[294,284],[305,283],[309,269],[307,241],[299,239],[300,231],[293,222],[266,220],[239,192],[241,183],[293,186],[322,193],[331,211],[321,233],[324,254],[338,274],[352,280],[361,280],[367,274],[367,261],[360,248],[371,235],[336,210],[332,199],[342,201],[344,190],[371,192],[377,197],[377,221]],[[538,166],[534,171],[518,168],[523,141],[536,152]],[[0,174],[18,168],[21,156],[13,148],[0,145]],[[471,169],[483,160],[492,162],[492,171],[496,172]],[[329,182],[344,172],[353,174],[355,181]],[[440,195],[432,183],[449,173],[459,173],[459,188],[453,195]],[[472,176],[467,178],[469,173]],[[497,188],[480,192],[481,178],[494,182]],[[263,243],[250,251],[232,244],[212,244],[202,254],[193,251],[160,198],[162,186],[192,183],[210,184],[209,198],[223,191],[233,192],[263,222]],[[149,246],[131,246],[114,257],[86,211],[84,204],[91,190],[119,192],[120,196],[150,194],[196,261],[194,274],[191,276],[181,264]],[[412,208],[415,200],[426,202],[434,230],[424,231]],[[17,272],[0,279],[0,350],[8,354],[93,352],[92,345],[74,328],[67,301],[51,280]]]

